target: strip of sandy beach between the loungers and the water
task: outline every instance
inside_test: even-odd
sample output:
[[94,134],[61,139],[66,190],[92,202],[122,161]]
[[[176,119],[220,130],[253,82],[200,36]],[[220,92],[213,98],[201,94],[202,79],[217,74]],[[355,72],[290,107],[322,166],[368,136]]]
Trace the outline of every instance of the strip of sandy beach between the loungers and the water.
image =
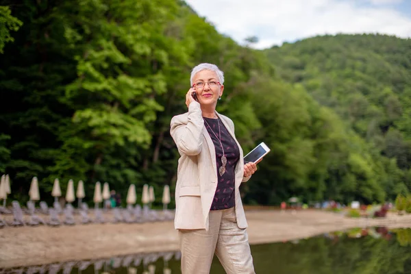
[[[301,210],[295,214],[291,210],[247,210],[246,214],[251,245],[307,238],[351,227],[411,227],[411,214],[388,214],[385,219],[350,219],[321,210]],[[0,229],[1,268],[177,249],[172,221]]]

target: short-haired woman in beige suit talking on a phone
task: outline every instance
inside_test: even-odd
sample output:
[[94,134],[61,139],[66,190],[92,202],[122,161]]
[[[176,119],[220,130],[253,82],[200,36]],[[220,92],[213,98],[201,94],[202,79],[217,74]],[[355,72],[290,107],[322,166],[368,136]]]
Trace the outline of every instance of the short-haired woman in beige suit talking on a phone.
[[171,119],[170,131],[181,155],[175,229],[182,273],[209,273],[214,252],[227,273],[255,273],[238,188],[256,172],[256,164],[244,164],[234,123],[216,112],[223,72],[214,64],[199,64],[190,82],[188,112]]

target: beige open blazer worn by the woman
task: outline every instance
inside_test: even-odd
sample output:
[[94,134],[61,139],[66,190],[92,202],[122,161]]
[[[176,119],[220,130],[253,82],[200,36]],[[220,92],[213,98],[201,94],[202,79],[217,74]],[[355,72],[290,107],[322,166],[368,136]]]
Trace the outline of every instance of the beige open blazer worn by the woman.
[[[243,177],[243,153],[234,135],[234,123],[226,116],[217,113],[229,134],[234,138],[240,150],[240,160],[235,168],[235,201],[237,225],[247,227],[244,208],[240,197],[241,182],[250,177]],[[208,212],[217,187],[216,151],[210,135],[204,127],[200,104],[190,103],[188,112],[171,119],[171,136],[177,145],[180,158],[177,169],[175,188],[175,229],[207,229]]]

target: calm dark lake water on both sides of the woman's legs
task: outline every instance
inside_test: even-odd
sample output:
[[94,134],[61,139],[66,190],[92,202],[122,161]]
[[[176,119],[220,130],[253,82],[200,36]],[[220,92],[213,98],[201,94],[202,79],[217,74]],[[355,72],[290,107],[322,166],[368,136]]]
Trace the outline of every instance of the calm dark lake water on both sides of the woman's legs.
[[[251,246],[256,273],[410,274],[411,228],[350,229],[313,238]],[[134,254],[84,262],[65,262],[3,273],[180,273],[178,252]],[[44,271],[44,272],[43,272]],[[1,271],[0,271],[1,272]],[[165,272],[166,273],[166,272]],[[164,274],[165,274],[164,273]],[[225,273],[214,258],[212,274]]]

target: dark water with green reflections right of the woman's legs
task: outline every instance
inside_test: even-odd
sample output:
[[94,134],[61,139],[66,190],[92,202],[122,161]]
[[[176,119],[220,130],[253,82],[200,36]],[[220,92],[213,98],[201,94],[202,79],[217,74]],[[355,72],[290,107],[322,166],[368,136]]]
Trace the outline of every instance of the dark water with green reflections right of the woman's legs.
[[350,229],[252,252],[256,273],[411,273],[411,229]]

